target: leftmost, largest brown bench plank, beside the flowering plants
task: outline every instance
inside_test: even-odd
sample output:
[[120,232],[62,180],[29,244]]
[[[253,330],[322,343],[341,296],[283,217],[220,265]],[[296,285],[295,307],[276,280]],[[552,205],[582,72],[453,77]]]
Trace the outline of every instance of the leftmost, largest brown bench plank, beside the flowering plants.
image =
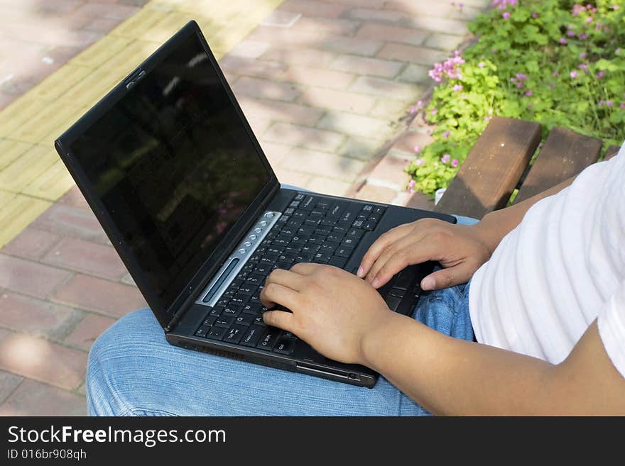
[[482,218],[505,207],[539,142],[540,124],[493,118],[435,210]]

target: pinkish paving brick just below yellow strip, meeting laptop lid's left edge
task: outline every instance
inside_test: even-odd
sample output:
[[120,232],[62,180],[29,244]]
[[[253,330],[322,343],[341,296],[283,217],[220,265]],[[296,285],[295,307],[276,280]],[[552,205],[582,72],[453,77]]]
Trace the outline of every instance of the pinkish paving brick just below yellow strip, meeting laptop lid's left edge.
[[70,235],[99,244],[109,244],[107,235],[104,234],[102,226],[92,211],[80,207],[60,203],[54,204],[33,222],[33,226],[60,235]]

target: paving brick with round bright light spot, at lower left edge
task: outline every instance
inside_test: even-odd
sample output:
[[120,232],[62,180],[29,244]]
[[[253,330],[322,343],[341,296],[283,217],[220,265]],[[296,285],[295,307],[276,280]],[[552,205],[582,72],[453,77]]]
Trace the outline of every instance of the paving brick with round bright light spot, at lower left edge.
[[87,353],[21,333],[0,340],[0,369],[55,385],[75,389],[85,377]]

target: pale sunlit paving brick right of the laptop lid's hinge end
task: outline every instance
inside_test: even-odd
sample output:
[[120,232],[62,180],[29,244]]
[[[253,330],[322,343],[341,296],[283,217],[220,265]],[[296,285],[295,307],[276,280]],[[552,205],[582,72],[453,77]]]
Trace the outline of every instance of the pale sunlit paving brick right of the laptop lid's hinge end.
[[364,162],[327,152],[294,148],[281,162],[281,166],[293,167],[298,172],[315,176],[352,181],[364,168]]

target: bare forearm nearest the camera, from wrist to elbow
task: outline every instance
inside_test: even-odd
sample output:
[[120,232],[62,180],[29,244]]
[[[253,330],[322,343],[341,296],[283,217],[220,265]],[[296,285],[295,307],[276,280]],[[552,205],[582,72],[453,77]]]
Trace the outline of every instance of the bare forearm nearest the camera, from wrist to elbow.
[[366,365],[435,414],[544,414],[553,402],[553,365],[450,338],[391,314],[363,341]]

